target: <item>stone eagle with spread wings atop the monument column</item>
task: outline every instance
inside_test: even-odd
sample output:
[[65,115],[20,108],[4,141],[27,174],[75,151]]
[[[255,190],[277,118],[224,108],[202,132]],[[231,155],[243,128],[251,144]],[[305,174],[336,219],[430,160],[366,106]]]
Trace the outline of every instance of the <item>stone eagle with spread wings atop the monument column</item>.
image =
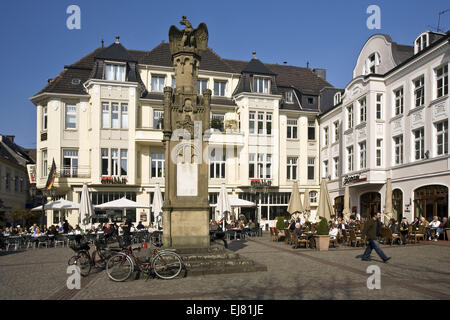
[[186,16],[183,16],[180,24],[185,26],[184,30],[175,26],[171,26],[169,29],[170,53],[172,55],[186,49],[203,51],[208,47],[208,28],[205,23],[200,23],[197,29],[194,29]]

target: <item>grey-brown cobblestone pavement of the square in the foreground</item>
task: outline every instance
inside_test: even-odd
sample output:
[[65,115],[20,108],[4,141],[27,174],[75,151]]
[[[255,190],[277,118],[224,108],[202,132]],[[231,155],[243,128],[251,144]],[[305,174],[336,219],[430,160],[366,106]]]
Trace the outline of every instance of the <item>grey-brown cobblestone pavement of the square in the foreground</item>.
[[[267,265],[267,272],[192,276],[174,280],[131,279],[116,283],[104,271],[83,278],[81,290],[66,288],[68,248],[0,255],[1,299],[450,299],[450,247],[382,246],[361,261],[363,248],[327,252],[292,249],[268,234],[235,240],[229,249]],[[381,269],[381,289],[369,290],[369,265]]]

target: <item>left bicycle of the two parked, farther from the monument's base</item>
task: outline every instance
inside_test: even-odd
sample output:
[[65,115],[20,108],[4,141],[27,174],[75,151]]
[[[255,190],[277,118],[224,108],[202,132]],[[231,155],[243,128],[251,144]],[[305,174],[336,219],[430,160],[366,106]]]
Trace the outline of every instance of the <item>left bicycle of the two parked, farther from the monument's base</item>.
[[[71,246],[70,248],[76,252],[76,255],[69,259],[68,264],[78,265],[83,277],[89,275],[92,267],[104,269],[106,267],[106,261],[112,256],[111,251],[113,250],[107,249],[106,244],[100,241],[94,242],[94,251],[92,252],[92,255],[89,253],[90,247],[88,243]],[[116,251],[119,250],[120,249],[116,249]],[[99,259],[96,259],[97,256]]]

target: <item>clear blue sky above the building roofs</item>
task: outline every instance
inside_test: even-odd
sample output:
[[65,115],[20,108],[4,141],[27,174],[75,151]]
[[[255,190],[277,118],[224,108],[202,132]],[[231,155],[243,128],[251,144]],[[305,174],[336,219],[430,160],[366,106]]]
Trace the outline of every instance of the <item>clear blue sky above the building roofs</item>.
[[[68,6],[81,9],[81,29],[69,30]],[[366,9],[381,9],[381,29],[369,30]],[[28,100],[71,64],[120,35],[129,49],[151,50],[168,41],[172,24],[186,15],[196,27],[205,22],[209,46],[228,59],[327,69],[327,80],[345,87],[357,55],[375,33],[389,34],[400,44],[437,25],[446,0],[428,1],[0,1],[0,133],[18,144],[36,147],[36,110]],[[450,12],[441,28],[450,29]],[[51,124],[50,124],[51,125]]]

